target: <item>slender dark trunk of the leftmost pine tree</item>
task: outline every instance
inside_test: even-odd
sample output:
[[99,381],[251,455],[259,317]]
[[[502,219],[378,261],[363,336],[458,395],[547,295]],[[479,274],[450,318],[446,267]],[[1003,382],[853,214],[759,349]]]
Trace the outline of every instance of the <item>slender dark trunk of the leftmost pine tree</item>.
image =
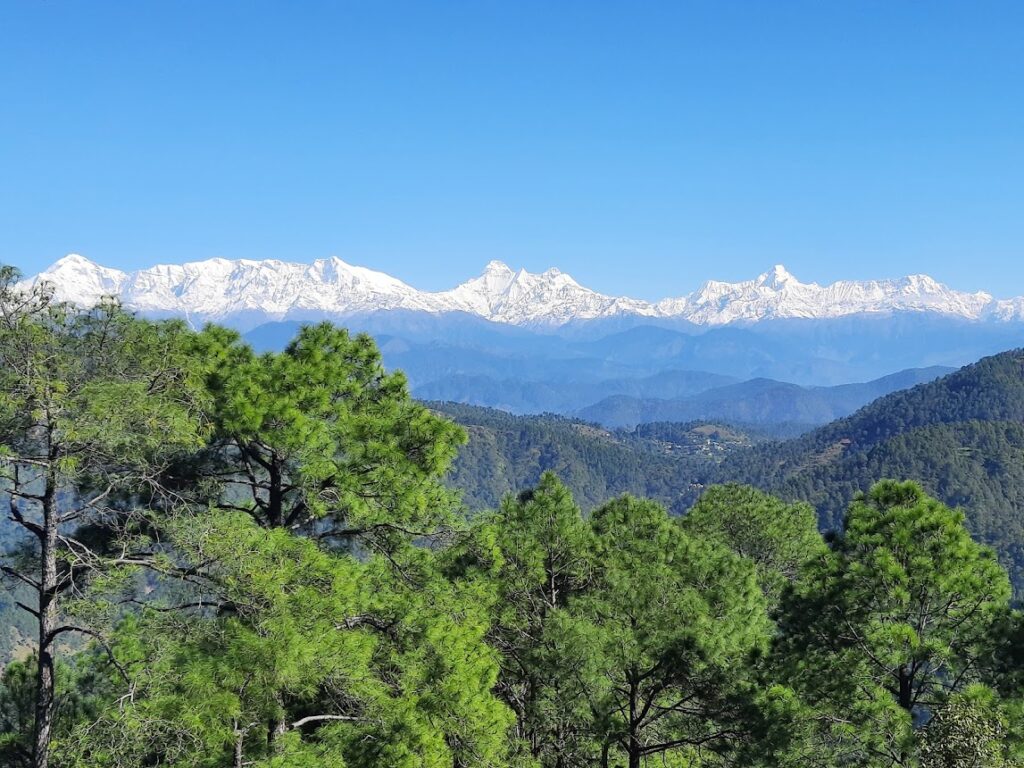
[[32,748],[33,768],[47,768],[55,709],[53,674],[53,631],[57,620],[57,511],[55,478],[52,470],[43,492],[43,530],[39,537],[39,657],[36,667],[36,722]]

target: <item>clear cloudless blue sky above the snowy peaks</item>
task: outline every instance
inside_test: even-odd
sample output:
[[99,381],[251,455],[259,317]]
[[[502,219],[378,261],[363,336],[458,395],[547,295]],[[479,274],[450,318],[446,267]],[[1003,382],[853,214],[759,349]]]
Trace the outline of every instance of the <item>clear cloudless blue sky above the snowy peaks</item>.
[[0,261],[1024,294],[1024,3],[0,0]]

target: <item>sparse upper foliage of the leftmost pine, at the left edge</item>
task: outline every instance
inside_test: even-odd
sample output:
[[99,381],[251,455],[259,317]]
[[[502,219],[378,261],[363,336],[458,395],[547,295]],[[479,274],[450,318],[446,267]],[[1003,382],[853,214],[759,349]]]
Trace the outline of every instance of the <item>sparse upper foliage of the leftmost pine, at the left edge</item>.
[[0,435],[10,471],[38,449],[40,418],[59,438],[69,485],[98,485],[112,465],[198,447],[200,382],[186,339],[180,323],[145,323],[113,304],[40,303],[9,314],[0,328]]

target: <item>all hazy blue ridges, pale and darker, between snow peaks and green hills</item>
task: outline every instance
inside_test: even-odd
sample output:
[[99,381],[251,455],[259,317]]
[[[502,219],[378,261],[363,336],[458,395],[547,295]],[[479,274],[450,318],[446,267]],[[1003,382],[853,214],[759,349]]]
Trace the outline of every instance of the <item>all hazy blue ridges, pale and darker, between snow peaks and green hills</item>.
[[[375,335],[386,365],[406,372],[417,397],[605,426],[700,419],[817,426],[1024,341],[1015,324],[921,314],[702,331],[595,322],[540,333],[395,312],[349,323]],[[246,338],[276,349],[297,326],[267,324]],[[904,361],[914,369],[899,368]]]

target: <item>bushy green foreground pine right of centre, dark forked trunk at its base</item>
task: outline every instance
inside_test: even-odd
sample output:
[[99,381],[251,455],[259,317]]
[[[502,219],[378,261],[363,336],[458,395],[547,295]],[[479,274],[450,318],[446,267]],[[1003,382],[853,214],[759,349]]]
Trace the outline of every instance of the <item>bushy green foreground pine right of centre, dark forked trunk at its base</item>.
[[593,516],[595,588],[581,606],[601,656],[605,736],[649,756],[727,752],[744,730],[744,670],[769,639],[754,566],[629,497]]

